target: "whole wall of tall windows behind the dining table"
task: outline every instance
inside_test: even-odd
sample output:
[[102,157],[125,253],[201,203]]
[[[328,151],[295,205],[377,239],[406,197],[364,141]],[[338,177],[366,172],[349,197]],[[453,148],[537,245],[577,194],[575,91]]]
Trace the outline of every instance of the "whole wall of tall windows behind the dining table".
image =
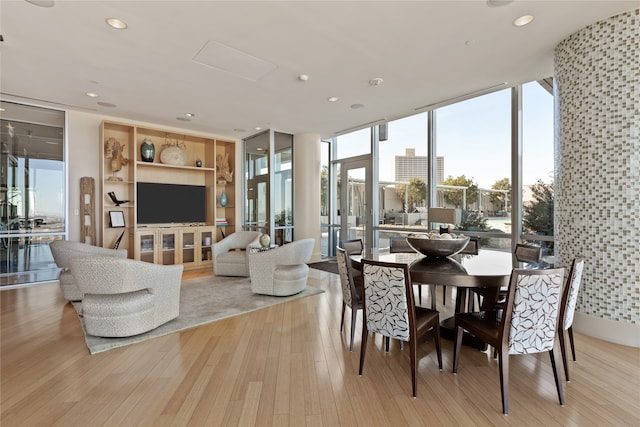
[[[514,240],[524,240],[552,254],[553,100],[540,84],[531,82],[518,90],[504,89],[391,121],[379,142],[372,137],[378,130],[375,126],[334,138],[337,154],[330,161],[339,171],[341,159],[372,152],[378,182],[378,212],[372,213],[379,220],[375,247],[384,249],[389,237],[432,226],[427,207],[451,207],[462,213],[456,228],[479,236],[484,248],[510,251]],[[435,147],[433,159],[428,156],[429,138]],[[373,150],[372,142],[378,144]],[[514,155],[514,146],[523,147],[522,153]],[[515,168],[522,177],[522,197],[514,201],[512,163],[519,157],[522,165]],[[428,165],[434,182],[429,182]],[[339,195],[339,178],[335,179]],[[429,203],[432,186],[435,197]],[[326,199],[332,197],[337,196],[329,191]],[[340,202],[337,197],[332,205],[336,213]],[[519,216],[514,215],[513,203],[522,207]]]

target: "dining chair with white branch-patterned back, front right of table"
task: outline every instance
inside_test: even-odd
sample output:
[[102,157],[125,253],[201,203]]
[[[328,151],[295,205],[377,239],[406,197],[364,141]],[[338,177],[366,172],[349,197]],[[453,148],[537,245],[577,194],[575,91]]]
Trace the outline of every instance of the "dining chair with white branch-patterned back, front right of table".
[[564,405],[562,381],[557,369],[557,330],[563,268],[514,269],[504,310],[455,315],[456,342],[453,373],[458,372],[462,336],[467,331],[498,351],[502,412],[509,412],[509,356],[549,352],[560,405]]

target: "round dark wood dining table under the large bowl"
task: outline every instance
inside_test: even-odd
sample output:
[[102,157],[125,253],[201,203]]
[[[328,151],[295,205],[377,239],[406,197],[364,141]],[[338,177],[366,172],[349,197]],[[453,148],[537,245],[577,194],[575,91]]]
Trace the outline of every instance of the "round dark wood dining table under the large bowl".
[[[388,253],[371,250],[364,254],[350,256],[352,266],[361,269],[362,259],[383,262],[405,263],[409,265],[409,275],[414,285],[455,286],[455,313],[466,310],[469,289],[482,288],[481,310],[492,309],[498,300],[501,288],[509,285],[511,271],[521,267],[515,263],[510,252],[480,249],[477,255],[457,254],[448,257],[425,256],[415,253]],[[445,338],[455,337],[455,319],[441,321],[441,334]],[[484,343],[465,336],[465,344],[484,348]]]

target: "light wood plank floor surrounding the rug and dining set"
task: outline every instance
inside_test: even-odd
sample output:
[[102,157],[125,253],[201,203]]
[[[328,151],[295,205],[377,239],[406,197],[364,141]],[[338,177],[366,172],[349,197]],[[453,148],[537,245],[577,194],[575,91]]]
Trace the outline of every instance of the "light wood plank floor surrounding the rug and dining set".
[[512,357],[505,417],[497,362],[463,348],[453,375],[450,341],[442,372],[421,342],[416,399],[408,347],[370,339],[359,376],[338,276],[312,270],[309,284],[327,292],[94,356],[57,285],[3,291],[0,424],[640,425],[639,349],[578,334],[564,407],[547,355]]

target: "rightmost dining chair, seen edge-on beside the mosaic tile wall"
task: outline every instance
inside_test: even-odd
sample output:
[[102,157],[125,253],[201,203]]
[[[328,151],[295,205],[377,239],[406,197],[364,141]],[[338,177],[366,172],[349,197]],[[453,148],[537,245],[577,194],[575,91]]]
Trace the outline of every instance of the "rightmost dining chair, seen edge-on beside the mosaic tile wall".
[[576,348],[573,344],[573,315],[576,310],[576,302],[578,301],[578,291],[580,290],[580,282],[582,281],[582,271],[584,270],[584,258],[576,258],[571,263],[569,276],[562,292],[562,301],[560,302],[560,322],[558,326],[558,336],[560,337],[560,351],[562,352],[562,364],[564,366],[564,374],[569,382],[569,365],[567,364],[567,350],[565,345],[565,331],[569,335],[569,343],[571,344],[571,355],[573,361],[576,361]]

